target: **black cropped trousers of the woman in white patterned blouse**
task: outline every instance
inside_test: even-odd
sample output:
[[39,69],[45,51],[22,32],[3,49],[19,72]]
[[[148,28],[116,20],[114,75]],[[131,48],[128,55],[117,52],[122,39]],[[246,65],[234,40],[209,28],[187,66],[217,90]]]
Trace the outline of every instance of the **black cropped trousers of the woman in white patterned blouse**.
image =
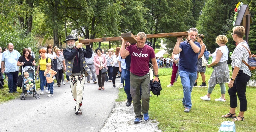
[[247,100],[245,96],[246,92],[246,85],[247,82],[250,80],[250,76],[245,74],[243,70],[239,70],[237,77],[234,81],[233,87],[229,88],[229,97],[230,97],[230,107],[236,108],[237,107],[237,97],[240,101],[240,111],[247,110]]

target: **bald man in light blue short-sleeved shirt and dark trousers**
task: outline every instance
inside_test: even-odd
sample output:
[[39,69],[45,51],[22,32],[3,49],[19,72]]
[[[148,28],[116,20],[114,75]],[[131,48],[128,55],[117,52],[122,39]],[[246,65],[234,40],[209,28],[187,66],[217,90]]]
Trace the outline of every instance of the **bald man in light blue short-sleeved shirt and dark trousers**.
[[17,66],[20,53],[14,50],[12,43],[8,44],[8,50],[3,53],[1,67],[2,73],[5,73],[8,77],[9,93],[17,92],[17,80],[19,75],[19,66]]

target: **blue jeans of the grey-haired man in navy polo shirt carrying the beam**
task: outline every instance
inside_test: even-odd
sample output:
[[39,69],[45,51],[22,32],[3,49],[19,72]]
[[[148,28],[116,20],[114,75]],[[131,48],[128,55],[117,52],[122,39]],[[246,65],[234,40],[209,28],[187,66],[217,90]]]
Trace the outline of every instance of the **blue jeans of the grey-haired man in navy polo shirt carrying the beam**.
[[181,84],[183,86],[183,100],[182,103],[186,104],[185,107],[191,109],[191,93],[193,86],[195,84],[195,80],[197,78],[197,72],[187,72],[184,70],[179,70]]

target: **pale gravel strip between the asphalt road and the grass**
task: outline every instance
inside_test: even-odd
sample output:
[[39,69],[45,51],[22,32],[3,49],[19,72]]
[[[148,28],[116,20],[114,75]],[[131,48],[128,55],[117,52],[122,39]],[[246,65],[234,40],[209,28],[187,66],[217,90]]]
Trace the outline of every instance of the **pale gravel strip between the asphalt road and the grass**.
[[162,132],[162,130],[158,129],[156,120],[143,120],[138,124],[134,124],[134,119],[133,105],[127,107],[126,102],[115,102],[115,108],[112,109],[100,132]]

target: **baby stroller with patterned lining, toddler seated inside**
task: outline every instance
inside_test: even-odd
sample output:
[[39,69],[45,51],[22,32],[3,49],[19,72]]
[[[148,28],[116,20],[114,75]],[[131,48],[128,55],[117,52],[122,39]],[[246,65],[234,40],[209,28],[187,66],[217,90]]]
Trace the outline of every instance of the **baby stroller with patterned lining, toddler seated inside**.
[[36,92],[36,86],[35,86],[35,68],[32,66],[26,66],[24,68],[22,68],[22,72],[21,72],[21,76],[22,76],[22,93],[20,95],[20,100],[22,100],[22,98],[24,98],[24,100],[26,99],[26,94],[27,94],[27,90],[26,87],[24,86],[24,72],[28,72],[29,77],[31,77],[34,81],[31,82],[34,84],[33,87],[33,97],[35,97],[36,99],[40,99],[40,94],[37,94]]

